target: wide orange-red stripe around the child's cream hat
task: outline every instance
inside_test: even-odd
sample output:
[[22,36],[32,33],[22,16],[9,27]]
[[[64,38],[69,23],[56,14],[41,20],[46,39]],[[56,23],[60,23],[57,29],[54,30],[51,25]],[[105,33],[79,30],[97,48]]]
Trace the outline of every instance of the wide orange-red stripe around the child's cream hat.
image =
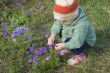
[[75,11],[77,9],[77,7],[78,7],[78,3],[77,3],[77,0],[75,0],[72,3],[72,5],[67,6],[67,7],[55,4],[54,8],[53,8],[53,11],[61,13],[61,14],[67,14],[67,13]]

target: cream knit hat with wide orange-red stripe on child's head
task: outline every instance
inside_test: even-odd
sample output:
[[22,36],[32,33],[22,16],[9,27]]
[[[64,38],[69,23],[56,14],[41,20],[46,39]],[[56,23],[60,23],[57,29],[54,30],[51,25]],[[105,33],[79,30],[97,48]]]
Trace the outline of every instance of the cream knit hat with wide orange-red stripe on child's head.
[[53,14],[58,20],[75,19],[78,16],[77,0],[55,0]]

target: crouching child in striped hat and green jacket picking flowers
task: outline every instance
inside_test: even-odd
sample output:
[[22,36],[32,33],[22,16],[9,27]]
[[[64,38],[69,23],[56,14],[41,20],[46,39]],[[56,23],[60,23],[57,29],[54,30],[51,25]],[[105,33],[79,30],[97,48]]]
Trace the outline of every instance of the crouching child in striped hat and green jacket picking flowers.
[[86,58],[84,50],[96,42],[93,26],[77,0],[55,0],[53,14],[56,21],[51,28],[48,45],[52,45],[55,36],[60,34],[62,43],[56,44],[55,49],[64,54],[71,51],[75,55],[67,63],[71,66],[79,64]]

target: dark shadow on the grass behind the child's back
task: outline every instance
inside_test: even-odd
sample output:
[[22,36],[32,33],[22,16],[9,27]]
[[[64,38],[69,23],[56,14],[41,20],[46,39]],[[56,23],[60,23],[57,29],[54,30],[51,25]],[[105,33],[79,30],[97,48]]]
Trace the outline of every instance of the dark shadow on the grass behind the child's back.
[[96,45],[92,47],[92,51],[98,54],[102,54],[106,51],[110,51],[110,25],[108,27],[103,28],[104,31],[98,30]]

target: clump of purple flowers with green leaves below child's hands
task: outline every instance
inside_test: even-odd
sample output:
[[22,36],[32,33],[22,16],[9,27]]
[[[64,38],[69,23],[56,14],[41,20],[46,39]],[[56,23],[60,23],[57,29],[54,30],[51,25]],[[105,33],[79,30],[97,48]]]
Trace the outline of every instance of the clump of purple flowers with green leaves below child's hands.
[[48,70],[53,70],[59,66],[59,57],[56,51],[49,47],[40,47],[39,50],[34,52],[32,47],[26,52],[26,54],[32,54],[28,59],[28,63],[32,64],[32,72],[44,73]]

